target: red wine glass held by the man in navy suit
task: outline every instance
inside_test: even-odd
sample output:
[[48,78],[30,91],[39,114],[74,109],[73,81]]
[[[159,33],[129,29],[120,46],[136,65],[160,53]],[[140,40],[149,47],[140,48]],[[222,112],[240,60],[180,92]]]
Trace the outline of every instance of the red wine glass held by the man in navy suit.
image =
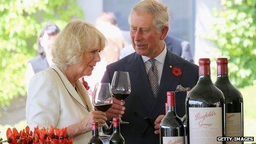
[[[116,99],[124,100],[131,93],[129,73],[115,71],[111,83],[111,90]],[[129,124],[129,122],[120,119],[120,124]]]

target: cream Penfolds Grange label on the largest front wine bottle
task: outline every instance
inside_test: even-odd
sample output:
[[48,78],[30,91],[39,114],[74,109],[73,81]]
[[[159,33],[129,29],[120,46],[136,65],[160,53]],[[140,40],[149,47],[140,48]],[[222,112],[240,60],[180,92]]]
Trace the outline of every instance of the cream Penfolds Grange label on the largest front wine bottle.
[[193,143],[222,143],[222,108],[189,108],[189,141]]

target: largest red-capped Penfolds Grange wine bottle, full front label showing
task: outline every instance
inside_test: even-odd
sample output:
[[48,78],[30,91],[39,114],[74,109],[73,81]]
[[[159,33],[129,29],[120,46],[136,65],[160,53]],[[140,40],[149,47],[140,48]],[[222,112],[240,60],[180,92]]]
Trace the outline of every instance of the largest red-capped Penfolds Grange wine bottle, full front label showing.
[[199,59],[199,81],[186,99],[188,143],[225,143],[225,98],[211,81],[210,59]]

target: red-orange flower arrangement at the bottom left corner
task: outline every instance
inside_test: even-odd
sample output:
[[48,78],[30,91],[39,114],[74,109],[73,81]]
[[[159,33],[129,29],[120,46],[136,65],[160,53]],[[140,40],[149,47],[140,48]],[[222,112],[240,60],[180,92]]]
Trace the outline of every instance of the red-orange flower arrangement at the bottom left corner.
[[30,131],[29,126],[26,126],[25,130],[18,132],[15,127],[13,130],[10,128],[6,132],[7,142],[16,144],[26,143],[73,143],[73,138],[68,137],[67,128],[58,129],[51,126],[51,129],[47,131],[45,128],[39,129],[38,126],[34,128],[34,133]]

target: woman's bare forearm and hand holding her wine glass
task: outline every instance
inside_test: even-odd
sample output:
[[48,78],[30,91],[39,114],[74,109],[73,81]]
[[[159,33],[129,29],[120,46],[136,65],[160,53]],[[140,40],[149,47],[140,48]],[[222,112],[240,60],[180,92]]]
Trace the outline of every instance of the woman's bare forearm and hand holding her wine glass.
[[76,124],[67,127],[67,133],[70,137],[76,137],[92,130],[92,122],[98,121],[99,126],[106,122],[106,114],[102,111],[90,111],[89,114]]

